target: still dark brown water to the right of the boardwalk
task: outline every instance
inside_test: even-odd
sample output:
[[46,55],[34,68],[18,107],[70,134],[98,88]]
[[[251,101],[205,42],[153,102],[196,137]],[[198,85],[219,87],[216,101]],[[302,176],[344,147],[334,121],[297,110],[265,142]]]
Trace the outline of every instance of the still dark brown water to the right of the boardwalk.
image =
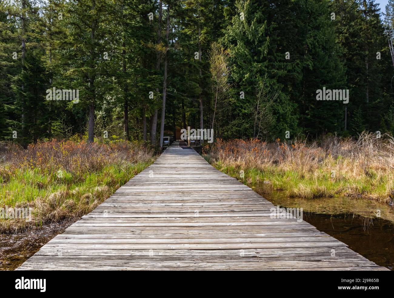
[[275,206],[303,208],[303,219],[318,230],[379,266],[394,270],[394,208],[359,198],[262,196]]

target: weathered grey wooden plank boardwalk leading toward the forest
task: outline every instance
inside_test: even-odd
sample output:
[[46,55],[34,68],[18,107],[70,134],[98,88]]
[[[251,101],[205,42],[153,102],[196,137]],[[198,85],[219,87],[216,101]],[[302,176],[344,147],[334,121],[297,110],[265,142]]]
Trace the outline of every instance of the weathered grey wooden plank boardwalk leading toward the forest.
[[174,143],[17,270],[387,270]]

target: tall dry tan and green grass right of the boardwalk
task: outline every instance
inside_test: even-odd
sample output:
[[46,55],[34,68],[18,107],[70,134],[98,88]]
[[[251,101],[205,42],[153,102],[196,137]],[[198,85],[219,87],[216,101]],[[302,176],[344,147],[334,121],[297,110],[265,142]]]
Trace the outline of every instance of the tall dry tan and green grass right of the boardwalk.
[[263,193],[277,190],[289,197],[349,196],[393,202],[394,139],[390,135],[377,138],[364,132],[358,139],[331,136],[319,142],[291,143],[219,140],[204,148],[204,154],[219,170]]

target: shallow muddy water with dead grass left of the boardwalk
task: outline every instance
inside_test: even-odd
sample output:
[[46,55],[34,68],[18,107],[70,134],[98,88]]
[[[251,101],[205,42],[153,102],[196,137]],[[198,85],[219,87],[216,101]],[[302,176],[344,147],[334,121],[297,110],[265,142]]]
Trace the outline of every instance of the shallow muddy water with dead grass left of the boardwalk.
[[76,219],[68,219],[18,234],[0,234],[0,270],[14,270]]

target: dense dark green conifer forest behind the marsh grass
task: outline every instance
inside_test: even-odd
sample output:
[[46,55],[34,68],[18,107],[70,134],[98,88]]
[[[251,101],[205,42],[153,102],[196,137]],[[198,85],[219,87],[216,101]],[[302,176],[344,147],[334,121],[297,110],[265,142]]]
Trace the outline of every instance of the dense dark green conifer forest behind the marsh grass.
[[[393,8],[5,0],[0,138],[25,148],[107,136],[161,147],[163,135],[187,127],[224,140],[392,134]],[[348,99],[317,100],[323,88]]]

